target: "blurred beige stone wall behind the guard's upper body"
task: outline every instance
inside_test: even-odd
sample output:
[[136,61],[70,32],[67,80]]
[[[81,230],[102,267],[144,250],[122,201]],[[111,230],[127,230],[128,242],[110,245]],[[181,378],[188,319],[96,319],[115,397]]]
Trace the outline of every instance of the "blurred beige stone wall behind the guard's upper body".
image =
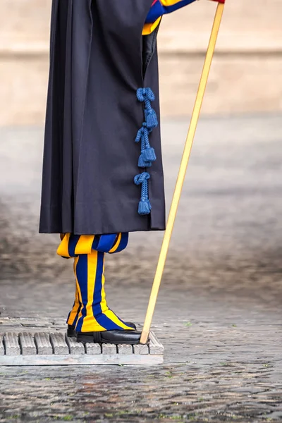
[[[163,116],[190,114],[216,5],[166,16],[159,32]],[[0,125],[44,121],[51,0],[0,0]],[[227,0],[204,114],[282,110],[281,0]]]

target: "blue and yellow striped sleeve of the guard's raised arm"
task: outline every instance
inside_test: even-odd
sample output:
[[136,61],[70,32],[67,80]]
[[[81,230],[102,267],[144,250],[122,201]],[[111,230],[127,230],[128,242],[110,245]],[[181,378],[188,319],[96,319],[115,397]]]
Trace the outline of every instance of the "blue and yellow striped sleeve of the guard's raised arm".
[[195,0],[154,0],[147,15],[143,35],[148,35],[159,25],[161,16],[177,11]]

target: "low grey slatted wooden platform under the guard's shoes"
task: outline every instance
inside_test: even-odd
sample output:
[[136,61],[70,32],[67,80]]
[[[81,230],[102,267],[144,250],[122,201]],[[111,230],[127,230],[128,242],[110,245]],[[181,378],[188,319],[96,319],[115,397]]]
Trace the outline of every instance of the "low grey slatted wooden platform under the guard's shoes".
[[0,365],[162,364],[164,347],[153,332],[149,345],[77,343],[64,332],[0,333]]

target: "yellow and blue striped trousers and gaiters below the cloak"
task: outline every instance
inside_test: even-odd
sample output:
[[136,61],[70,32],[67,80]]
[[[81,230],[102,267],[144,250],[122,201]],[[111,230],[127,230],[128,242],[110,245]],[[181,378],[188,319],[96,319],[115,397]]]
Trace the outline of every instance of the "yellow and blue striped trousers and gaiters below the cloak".
[[75,302],[68,314],[67,324],[78,332],[133,329],[109,309],[104,290],[105,253],[125,249],[128,233],[109,235],[73,235],[61,237],[57,254],[74,257]]

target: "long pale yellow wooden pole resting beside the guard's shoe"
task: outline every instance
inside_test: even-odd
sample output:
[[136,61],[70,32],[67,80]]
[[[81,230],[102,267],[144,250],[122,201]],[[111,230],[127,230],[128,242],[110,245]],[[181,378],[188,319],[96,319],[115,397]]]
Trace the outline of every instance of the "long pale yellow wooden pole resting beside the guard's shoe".
[[209,78],[209,70],[210,70],[211,65],[212,65],[212,58],[214,56],[214,49],[216,47],[216,39],[217,39],[217,35],[219,34],[219,27],[220,27],[220,24],[221,24],[223,9],[224,9],[224,4],[219,3],[217,8],[216,8],[216,16],[214,18],[214,25],[212,27],[212,35],[209,39],[209,47],[207,49],[207,56],[206,56],[206,59],[204,61],[204,68],[203,68],[203,71],[202,71],[202,76],[201,76],[201,80],[200,80],[199,89],[198,89],[198,92],[197,92],[195,106],[194,106],[194,110],[193,110],[193,113],[192,113],[190,128],[188,130],[188,135],[187,135],[186,142],[185,142],[183,157],[182,157],[182,160],[181,160],[178,178],[177,178],[177,181],[176,181],[176,188],[174,190],[173,200],[172,200],[172,203],[171,203],[171,210],[170,210],[169,216],[168,216],[166,232],[164,234],[164,240],[163,240],[163,243],[161,245],[159,262],[158,262],[158,265],[157,265],[156,274],[154,276],[154,283],[153,283],[153,286],[152,286],[152,292],[151,292],[151,295],[150,295],[150,298],[149,298],[149,305],[148,305],[147,314],[146,314],[146,318],[145,318],[145,324],[144,324],[144,327],[143,327],[143,330],[142,330],[142,335],[141,335],[141,338],[140,338],[140,343],[142,343],[142,344],[147,343],[148,336],[149,336],[149,330],[150,330],[150,327],[151,327],[151,324],[152,324],[154,309],[155,309],[155,306],[156,306],[157,296],[158,296],[158,293],[159,293],[159,286],[161,285],[161,278],[162,278],[163,273],[164,273],[164,265],[166,263],[166,256],[167,256],[167,253],[168,253],[168,247],[169,247],[169,243],[170,243],[170,240],[171,240],[171,234],[172,234],[172,231],[173,231],[174,222],[176,220],[176,213],[177,213],[177,209],[178,209],[180,195],[181,195],[183,183],[184,183],[184,180],[185,180],[185,174],[186,174],[186,170],[187,170],[187,167],[188,167],[188,162],[189,162],[189,158],[190,158],[190,152],[191,152],[191,149],[192,149],[193,140],[194,140],[194,137],[195,137],[195,132],[196,132],[196,129],[197,129],[197,123],[198,123],[199,116],[200,116],[202,101],[203,101],[203,98],[204,98],[204,92],[205,92],[206,87],[207,87],[207,80]]

